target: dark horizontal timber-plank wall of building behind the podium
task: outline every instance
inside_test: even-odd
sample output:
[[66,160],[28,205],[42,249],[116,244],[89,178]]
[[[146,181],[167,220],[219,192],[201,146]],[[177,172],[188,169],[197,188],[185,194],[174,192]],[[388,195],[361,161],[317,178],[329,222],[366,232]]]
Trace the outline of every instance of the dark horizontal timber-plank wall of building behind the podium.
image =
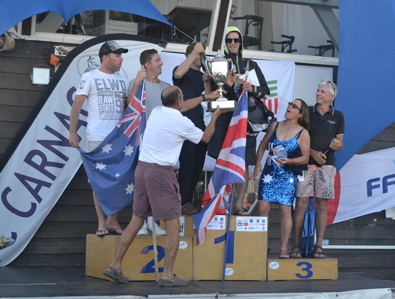
[[[16,40],[10,52],[0,52],[0,155],[17,133],[38,101],[45,86],[33,85],[33,67],[50,68],[49,55],[54,43]],[[346,135],[347,138],[347,135]],[[373,138],[359,153],[395,146],[395,123]],[[97,229],[91,188],[80,168],[32,241],[10,265],[80,266],[85,265],[85,236]],[[131,208],[122,210],[118,219],[125,227]],[[375,220],[376,219],[376,220]],[[278,209],[270,214],[269,244],[272,253],[279,250]],[[394,245],[395,221],[374,213],[328,226],[325,238],[337,245]],[[292,240],[289,242],[291,250]],[[246,249],[247,250],[247,249]],[[385,278],[395,276],[395,252],[389,250],[328,250],[339,259],[341,271],[364,273]],[[387,275],[387,276],[386,276]]]

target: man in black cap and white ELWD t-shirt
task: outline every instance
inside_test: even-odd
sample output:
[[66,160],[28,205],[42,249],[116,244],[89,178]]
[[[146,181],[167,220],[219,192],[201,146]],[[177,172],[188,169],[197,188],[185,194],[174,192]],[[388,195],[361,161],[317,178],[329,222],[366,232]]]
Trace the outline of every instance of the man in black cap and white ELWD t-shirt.
[[[99,146],[117,126],[125,107],[128,84],[127,78],[119,75],[118,71],[123,61],[122,53],[127,51],[128,49],[121,48],[114,41],[104,43],[99,50],[100,68],[82,75],[70,113],[71,146],[79,147],[77,124],[85,99],[88,101],[86,135],[89,152]],[[117,213],[109,215],[106,219],[94,192],[93,202],[99,222],[96,235],[103,237],[109,232],[120,235],[123,230],[118,224]]]

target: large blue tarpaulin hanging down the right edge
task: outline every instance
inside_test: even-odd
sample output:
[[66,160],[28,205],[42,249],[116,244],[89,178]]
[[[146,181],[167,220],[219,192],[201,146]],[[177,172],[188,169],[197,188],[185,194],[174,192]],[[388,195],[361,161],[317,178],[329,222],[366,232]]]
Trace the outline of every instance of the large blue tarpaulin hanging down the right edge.
[[395,0],[340,0],[339,95],[345,119],[337,171],[395,122]]

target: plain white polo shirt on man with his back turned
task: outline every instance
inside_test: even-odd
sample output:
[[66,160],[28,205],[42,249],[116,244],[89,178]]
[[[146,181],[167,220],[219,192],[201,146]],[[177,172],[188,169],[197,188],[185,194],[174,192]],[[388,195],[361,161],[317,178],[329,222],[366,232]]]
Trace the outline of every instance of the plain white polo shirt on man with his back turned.
[[197,144],[202,135],[203,131],[180,111],[155,107],[144,131],[139,161],[174,167],[184,140]]

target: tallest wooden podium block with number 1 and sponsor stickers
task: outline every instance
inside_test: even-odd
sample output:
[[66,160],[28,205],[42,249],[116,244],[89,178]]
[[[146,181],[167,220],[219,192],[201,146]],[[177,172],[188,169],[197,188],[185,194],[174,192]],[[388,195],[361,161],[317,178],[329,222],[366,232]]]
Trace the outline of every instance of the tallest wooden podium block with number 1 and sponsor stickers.
[[[195,232],[192,280],[222,280],[229,217],[217,215],[213,220],[216,217],[223,222],[217,228],[222,228],[207,229],[202,246],[197,246]],[[251,229],[257,223],[262,225],[261,231]],[[266,217],[232,216],[225,280],[266,280],[267,234]]]

